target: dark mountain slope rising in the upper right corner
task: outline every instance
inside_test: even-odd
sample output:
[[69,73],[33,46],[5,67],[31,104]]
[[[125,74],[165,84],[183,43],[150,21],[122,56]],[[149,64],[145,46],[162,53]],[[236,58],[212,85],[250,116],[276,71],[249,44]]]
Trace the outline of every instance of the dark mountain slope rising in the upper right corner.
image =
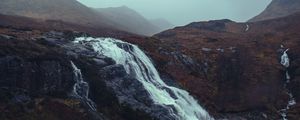
[[299,12],[299,6],[299,0],[273,0],[261,14],[250,19],[249,22],[288,16],[293,13]]

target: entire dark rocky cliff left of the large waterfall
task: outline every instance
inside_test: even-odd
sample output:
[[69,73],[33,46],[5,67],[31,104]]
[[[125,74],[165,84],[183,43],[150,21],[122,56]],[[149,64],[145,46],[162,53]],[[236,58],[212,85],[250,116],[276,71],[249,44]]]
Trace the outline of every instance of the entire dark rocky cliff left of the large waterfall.
[[[72,43],[77,34],[0,28],[0,119],[167,119],[167,110],[153,104],[122,66]],[[79,76],[71,61],[89,84],[96,111],[74,96]]]

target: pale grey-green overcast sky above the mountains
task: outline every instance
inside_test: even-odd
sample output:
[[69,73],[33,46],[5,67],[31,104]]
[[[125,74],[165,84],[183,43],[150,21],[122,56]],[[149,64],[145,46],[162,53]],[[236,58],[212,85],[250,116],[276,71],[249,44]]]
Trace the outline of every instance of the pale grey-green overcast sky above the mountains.
[[174,25],[195,21],[231,19],[247,21],[271,0],[78,0],[94,8],[125,5],[148,19],[164,18]]

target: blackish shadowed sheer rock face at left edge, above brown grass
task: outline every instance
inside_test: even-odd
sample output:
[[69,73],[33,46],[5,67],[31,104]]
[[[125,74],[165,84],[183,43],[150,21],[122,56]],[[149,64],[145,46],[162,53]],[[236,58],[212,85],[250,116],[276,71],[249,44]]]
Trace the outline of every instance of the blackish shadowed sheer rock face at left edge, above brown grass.
[[72,69],[60,61],[25,60],[20,57],[0,58],[1,87],[24,89],[33,96],[67,93],[74,84]]

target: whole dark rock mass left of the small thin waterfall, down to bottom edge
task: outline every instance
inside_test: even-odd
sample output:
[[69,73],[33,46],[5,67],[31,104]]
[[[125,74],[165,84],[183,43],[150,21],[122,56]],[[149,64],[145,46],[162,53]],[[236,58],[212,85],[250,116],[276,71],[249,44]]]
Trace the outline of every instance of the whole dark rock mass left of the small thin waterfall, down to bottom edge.
[[4,112],[0,119],[87,120],[102,116],[92,115],[70,96],[75,83],[72,56],[63,54],[58,45],[30,40],[9,40],[2,45],[0,111]]

